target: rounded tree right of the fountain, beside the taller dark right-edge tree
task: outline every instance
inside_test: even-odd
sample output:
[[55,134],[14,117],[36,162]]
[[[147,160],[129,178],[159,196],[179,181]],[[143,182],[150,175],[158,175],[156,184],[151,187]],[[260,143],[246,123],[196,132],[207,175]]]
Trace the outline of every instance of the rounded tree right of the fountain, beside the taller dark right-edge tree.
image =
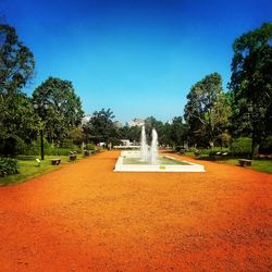
[[207,75],[191,86],[185,106],[185,120],[189,125],[189,136],[195,144],[214,145],[231,115],[231,108],[222,88],[218,73]]

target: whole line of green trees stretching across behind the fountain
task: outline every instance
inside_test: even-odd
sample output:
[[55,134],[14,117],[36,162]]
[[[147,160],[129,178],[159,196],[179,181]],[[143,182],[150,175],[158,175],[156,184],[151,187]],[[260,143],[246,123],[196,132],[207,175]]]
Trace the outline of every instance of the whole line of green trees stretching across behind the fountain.
[[[232,76],[223,90],[214,72],[195,83],[187,95],[184,115],[163,123],[145,120],[147,135],[152,127],[161,145],[225,147],[232,139],[251,138],[251,156],[272,138],[272,24],[243,34],[233,44]],[[32,97],[23,88],[35,74],[35,58],[23,45],[14,27],[0,25],[0,152],[16,152],[39,135],[61,146],[138,141],[140,127],[118,127],[110,109],[94,112],[82,125],[84,111],[72,82],[50,76]],[[41,138],[42,138],[41,137]]]

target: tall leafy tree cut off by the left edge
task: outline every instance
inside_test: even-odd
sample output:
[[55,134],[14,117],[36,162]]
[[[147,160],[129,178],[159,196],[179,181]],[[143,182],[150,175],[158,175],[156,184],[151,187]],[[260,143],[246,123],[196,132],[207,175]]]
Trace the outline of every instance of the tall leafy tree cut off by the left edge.
[[37,118],[29,98],[22,92],[34,67],[34,55],[18,41],[15,28],[0,24],[0,152],[12,154],[10,147],[37,136]]

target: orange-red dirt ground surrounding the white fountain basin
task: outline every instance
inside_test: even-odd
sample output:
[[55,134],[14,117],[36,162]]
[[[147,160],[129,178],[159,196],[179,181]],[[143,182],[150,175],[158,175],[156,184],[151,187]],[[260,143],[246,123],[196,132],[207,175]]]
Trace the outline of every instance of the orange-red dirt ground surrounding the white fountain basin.
[[0,187],[0,271],[272,270],[272,175],[113,173],[118,156]]

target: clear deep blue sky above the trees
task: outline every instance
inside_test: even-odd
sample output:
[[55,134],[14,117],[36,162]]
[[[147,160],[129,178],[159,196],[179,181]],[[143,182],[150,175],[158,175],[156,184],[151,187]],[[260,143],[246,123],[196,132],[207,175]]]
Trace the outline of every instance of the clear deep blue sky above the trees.
[[115,119],[182,115],[190,86],[230,81],[232,44],[272,22],[271,0],[0,0],[34,53],[36,76],[73,82],[86,113]]

